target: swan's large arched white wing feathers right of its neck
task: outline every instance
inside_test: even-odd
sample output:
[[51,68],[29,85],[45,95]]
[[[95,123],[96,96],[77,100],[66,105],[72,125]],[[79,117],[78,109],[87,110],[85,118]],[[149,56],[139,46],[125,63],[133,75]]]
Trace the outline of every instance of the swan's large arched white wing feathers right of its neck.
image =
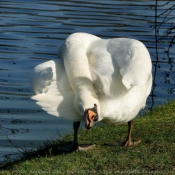
[[151,59],[143,43],[134,39],[98,40],[87,55],[97,94],[121,96],[151,76]]

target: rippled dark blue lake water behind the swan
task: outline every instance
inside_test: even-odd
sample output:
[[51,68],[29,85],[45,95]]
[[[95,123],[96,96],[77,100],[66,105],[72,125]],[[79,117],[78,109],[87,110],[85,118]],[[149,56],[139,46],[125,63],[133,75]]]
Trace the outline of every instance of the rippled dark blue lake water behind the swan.
[[[147,107],[174,99],[174,45],[166,52],[173,35],[159,41],[156,52],[154,5],[153,0],[0,2],[1,162],[19,155],[9,139],[17,147],[36,148],[48,139],[58,138],[58,131],[64,134],[72,129],[71,122],[48,115],[30,99],[34,93],[29,84],[31,70],[44,61],[57,59],[59,45],[71,33],[141,40],[150,51],[155,76]],[[162,14],[157,20],[161,38],[174,21],[175,10],[171,11],[171,7],[175,2],[159,0],[158,5],[157,14]]]

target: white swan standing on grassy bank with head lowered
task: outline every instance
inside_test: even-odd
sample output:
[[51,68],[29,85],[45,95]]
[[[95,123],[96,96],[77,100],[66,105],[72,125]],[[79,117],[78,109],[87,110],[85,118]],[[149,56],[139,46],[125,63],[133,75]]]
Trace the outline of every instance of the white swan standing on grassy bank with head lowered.
[[145,45],[135,39],[101,39],[88,33],[73,33],[58,50],[60,59],[34,68],[31,98],[47,113],[73,122],[78,145],[80,122],[90,129],[96,121],[128,122],[124,146],[133,146],[134,118],[145,107],[152,87],[152,63]]

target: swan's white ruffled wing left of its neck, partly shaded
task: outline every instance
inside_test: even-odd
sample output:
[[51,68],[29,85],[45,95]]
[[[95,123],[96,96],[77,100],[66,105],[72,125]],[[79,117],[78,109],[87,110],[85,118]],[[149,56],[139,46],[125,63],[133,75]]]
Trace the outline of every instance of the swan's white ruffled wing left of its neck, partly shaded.
[[32,99],[47,113],[70,121],[81,120],[74,109],[74,92],[61,59],[36,66],[31,73],[30,83],[36,93]]

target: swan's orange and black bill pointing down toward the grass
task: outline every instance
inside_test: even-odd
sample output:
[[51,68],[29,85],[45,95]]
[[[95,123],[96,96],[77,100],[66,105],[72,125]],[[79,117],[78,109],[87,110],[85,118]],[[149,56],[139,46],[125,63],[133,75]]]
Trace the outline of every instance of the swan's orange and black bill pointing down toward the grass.
[[93,126],[94,121],[97,120],[98,120],[97,105],[94,104],[93,108],[89,108],[84,111],[84,121],[86,129],[90,129]]

